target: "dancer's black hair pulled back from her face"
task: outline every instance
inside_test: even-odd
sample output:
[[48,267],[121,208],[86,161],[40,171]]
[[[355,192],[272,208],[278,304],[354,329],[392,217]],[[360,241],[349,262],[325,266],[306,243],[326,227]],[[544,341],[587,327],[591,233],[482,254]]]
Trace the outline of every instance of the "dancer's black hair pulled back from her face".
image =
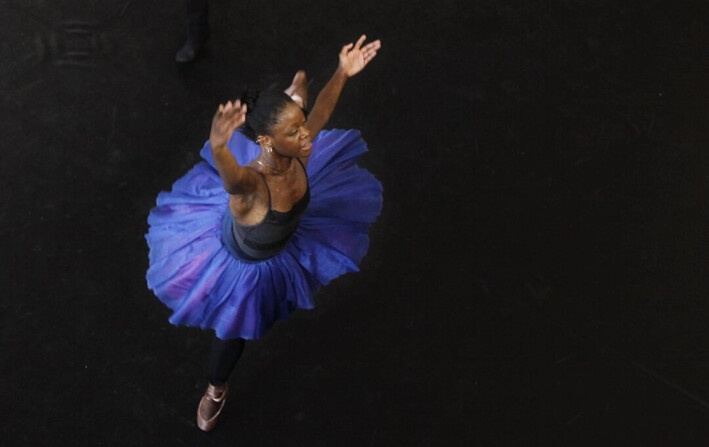
[[241,95],[241,103],[246,104],[246,121],[241,131],[249,139],[256,141],[259,135],[267,135],[278,121],[278,115],[288,103],[293,102],[282,90],[247,90]]

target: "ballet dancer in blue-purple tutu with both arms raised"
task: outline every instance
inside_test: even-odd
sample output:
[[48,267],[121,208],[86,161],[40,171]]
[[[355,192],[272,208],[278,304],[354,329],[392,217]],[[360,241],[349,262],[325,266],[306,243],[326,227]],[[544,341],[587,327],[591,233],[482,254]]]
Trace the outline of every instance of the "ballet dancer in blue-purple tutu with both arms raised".
[[216,333],[197,408],[204,431],[217,423],[245,340],[312,308],[313,293],[356,271],[367,251],[381,185],[357,167],[367,150],[358,131],[322,130],[347,79],[381,47],[365,39],[342,47],[307,120],[303,71],[285,92],[219,105],[205,161],[150,212],[148,287],[173,310],[172,324]]

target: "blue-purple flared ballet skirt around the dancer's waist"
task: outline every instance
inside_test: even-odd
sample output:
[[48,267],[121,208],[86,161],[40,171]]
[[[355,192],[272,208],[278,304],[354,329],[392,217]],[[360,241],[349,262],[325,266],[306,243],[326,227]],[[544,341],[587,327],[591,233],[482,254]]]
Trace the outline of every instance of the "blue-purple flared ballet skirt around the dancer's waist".
[[[260,148],[240,132],[229,141],[239,164]],[[382,187],[357,166],[367,146],[356,130],[322,131],[307,166],[311,201],[288,245],[261,262],[234,257],[221,241],[229,195],[207,142],[198,163],[161,192],[145,235],[148,287],[173,310],[170,323],[213,329],[221,339],[256,339],[313,293],[358,265],[382,207]]]

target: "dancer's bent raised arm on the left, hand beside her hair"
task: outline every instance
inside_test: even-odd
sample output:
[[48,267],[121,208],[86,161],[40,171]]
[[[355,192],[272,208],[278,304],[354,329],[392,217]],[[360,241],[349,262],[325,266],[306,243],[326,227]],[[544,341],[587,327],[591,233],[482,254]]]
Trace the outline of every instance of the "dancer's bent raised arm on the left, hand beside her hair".
[[209,144],[212,146],[212,158],[229,194],[247,194],[258,187],[258,174],[240,166],[229,151],[227,142],[236,129],[246,120],[246,104],[240,101],[219,104],[212,119]]

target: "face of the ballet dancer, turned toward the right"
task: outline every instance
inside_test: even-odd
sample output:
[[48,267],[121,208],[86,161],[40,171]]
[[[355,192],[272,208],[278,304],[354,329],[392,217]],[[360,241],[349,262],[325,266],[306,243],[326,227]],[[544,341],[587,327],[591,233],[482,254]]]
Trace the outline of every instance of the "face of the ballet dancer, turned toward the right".
[[288,103],[271,127],[274,151],[286,157],[307,157],[312,146],[305,114],[295,103]]

